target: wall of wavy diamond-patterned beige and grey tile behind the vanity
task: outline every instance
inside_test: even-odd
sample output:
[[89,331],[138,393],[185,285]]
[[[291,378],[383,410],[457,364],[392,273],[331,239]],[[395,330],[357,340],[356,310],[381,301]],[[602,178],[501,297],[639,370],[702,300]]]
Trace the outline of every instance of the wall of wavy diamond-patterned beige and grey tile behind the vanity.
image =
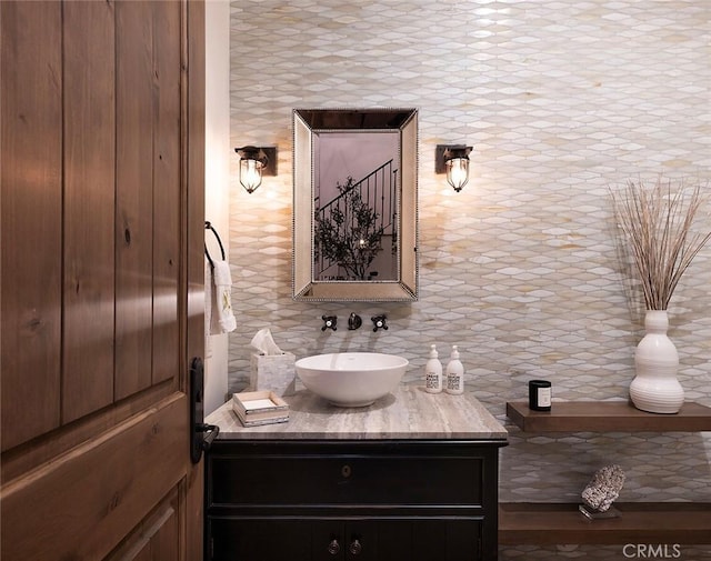
[[[458,344],[467,385],[502,422],[531,378],[557,399],[625,398],[643,300],[621,257],[609,189],[664,177],[711,188],[711,4],[705,0],[240,0],[231,7],[232,144],[276,144],[253,193],[232,160],[230,260],[238,329],[229,384],[249,380],[269,327],[297,357],[375,350],[422,377],[430,343]],[[291,299],[292,109],[419,109],[420,299]],[[438,143],[468,143],[460,192]],[[708,210],[708,209],[707,209]],[[709,228],[705,212],[699,219]],[[348,331],[350,312],[388,314]],[[687,399],[711,405],[711,247],[670,308]],[[321,315],[339,317],[321,331]],[[711,501],[709,433],[523,434],[507,424],[501,500],[574,501],[620,463],[621,500]],[[569,548],[571,549],[571,548]],[[502,548],[502,559],[584,548]],[[695,551],[692,549],[685,552]],[[620,558],[620,548],[595,551]]]

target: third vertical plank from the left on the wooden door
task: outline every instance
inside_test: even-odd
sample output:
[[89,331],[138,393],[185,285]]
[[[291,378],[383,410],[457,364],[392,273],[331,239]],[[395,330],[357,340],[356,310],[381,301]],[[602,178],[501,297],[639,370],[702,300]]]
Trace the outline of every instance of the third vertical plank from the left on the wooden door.
[[[117,2],[116,398],[151,384],[153,24],[149,2]],[[172,232],[174,236],[174,232]]]

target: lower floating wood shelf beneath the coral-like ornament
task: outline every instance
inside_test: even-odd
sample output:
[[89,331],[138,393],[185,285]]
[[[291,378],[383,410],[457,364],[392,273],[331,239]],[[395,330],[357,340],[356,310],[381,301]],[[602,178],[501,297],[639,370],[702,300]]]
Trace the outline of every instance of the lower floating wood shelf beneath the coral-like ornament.
[[620,518],[589,520],[573,503],[499,504],[499,543],[711,543],[711,503],[614,503]]

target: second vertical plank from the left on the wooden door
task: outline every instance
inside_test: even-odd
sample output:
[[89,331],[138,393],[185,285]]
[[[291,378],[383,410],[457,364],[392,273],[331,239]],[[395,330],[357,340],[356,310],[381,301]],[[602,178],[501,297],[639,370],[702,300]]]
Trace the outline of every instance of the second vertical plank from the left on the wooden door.
[[[62,420],[113,401],[114,31],[106,2],[68,2],[64,32]],[[91,212],[87,212],[90,208]]]

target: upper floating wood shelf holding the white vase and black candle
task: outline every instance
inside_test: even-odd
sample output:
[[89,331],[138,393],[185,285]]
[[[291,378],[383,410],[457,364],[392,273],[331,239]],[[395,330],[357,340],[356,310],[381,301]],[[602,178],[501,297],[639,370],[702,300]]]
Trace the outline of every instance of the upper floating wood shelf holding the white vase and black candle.
[[711,408],[684,403],[675,414],[645,413],[627,401],[554,401],[551,411],[508,402],[507,415],[528,432],[711,431]]

